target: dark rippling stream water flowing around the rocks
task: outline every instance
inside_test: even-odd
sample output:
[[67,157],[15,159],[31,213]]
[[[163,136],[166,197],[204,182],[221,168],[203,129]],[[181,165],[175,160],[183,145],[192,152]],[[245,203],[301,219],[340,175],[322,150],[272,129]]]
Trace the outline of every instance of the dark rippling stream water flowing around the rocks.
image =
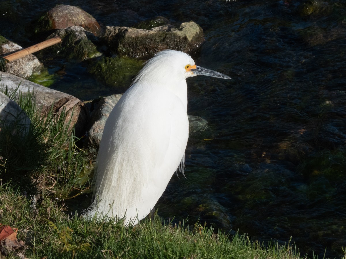
[[[301,253],[319,258],[326,248],[326,256],[343,255],[346,1],[10,0],[0,4],[0,34],[29,46],[25,24],[58,2],[81,7],[102,26],[193,20],[206,39],[196,63],[233,78],[188,79],[188,113],[208,129],[191,135],[186,178],[173,176],[159,215],[265,243],[292,237]],[[117,91],[83,64],[49,69],[64,71],[53,88],[82,100]]]

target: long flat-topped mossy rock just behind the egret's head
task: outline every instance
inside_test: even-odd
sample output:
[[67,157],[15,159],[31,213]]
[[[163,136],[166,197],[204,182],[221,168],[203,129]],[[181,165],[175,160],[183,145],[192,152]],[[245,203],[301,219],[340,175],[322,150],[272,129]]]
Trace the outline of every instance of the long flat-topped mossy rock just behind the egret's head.
[[142,59],[164,49],[194,52],[204,41],[202,28],[193,21],[150,30],[107,26],[103,38],[118,54]]

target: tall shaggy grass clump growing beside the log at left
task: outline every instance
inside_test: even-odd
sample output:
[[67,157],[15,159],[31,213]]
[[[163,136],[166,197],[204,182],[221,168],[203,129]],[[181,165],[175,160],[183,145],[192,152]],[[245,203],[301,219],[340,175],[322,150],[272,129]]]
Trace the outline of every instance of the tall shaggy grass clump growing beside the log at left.
[[76,145],[78,139],[69,129],[71,121],[64,111],[57,116],[51,109],[42,118],[34,93],[13,94],[16,92],[1,88],[26,112],[31,123],[24,137],[22,131],[12,134],[11,128],[1,128],[0,157],[5,166],[0,167],[0,178],[19,182],[23,192],[48,192],[60,199],[79,192],[90,173],[85,166],[87,155]]

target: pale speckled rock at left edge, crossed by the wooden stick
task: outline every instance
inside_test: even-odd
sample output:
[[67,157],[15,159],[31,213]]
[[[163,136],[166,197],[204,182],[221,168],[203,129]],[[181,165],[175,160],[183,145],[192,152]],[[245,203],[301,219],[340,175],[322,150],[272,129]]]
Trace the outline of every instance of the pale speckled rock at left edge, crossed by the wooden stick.
[[[0,56],[7,56],[21,49],[22,47],[18,44],[3,37],[0,38]],[[34,73],[38,73],[42,69],[43,65],[32,54],[13,60],[11,62],[7,62],[2,67],[3,71],[22,78],[28,78]]]

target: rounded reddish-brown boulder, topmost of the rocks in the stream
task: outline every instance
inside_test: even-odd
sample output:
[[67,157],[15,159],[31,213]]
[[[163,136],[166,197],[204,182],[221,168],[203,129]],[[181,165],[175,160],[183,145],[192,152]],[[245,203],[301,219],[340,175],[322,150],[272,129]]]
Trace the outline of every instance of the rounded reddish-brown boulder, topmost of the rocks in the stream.
[[99,35],[101,32],[99,23],[89,13],[66,4],[58,4],[42,16],[38,20],[35,32],[65,29],[71,26],[81,26],[94,35]]

